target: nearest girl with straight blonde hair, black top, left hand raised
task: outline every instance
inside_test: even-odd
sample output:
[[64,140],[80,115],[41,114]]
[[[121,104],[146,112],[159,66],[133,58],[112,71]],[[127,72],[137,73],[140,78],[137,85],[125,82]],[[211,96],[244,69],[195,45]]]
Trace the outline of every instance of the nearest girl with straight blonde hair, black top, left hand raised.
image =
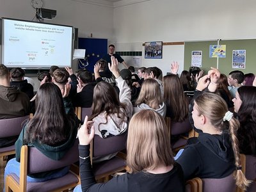
[[90,163],[94,127],[86,123],[87,118],[78,131],[81,186],[75,192],[185,191],[182,169],[173,161],[168,128],[156,111],[145,109],[132,116],[127,137],[127,166],[131,170],[106,183],[95,181]]

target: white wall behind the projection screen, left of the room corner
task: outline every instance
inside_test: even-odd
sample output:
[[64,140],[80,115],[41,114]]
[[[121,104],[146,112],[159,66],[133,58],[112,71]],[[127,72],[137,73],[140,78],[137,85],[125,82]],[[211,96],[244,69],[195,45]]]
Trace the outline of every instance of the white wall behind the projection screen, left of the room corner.
[[[79,28],[79,37],[88,37],[92,33],[93,38],[112,39],[113,7],[72,0],[42,1],[44,2],[43,8],[57,11],[54,19],[44,20],[44,22]],[[0,0],[0,17],[32,20],[35,17],[35,9],[31,6],[31,0]],[[73,62],[72,68],[76,70],[76,61]],[[36,77],[33,79],[38,81]]]

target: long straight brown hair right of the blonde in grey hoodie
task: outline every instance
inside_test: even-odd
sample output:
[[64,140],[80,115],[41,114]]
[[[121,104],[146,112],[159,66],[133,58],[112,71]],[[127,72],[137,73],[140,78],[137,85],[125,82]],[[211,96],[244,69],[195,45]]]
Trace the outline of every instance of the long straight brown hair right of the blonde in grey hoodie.
[[164,102],[170,108],[172,120],[183,122],[188,117],[188,99],[177,75],[169,74],[163,78]]

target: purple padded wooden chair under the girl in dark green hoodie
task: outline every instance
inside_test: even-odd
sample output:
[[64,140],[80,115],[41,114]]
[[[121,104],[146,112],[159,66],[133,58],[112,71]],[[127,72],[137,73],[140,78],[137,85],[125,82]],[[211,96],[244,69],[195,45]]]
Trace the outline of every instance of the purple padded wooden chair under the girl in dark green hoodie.
[[80,183],[79,175],[68,172],[67,175],[45,182],[27,182],[27,175],[32,173],[47,172],[69,166],[79,161],[78,140],[68,150],[67,154],[54,161],[42,154],[35,147],[23,145],[20,153],[20,177],[11,173],[6,177],[5,191],[65,191]]

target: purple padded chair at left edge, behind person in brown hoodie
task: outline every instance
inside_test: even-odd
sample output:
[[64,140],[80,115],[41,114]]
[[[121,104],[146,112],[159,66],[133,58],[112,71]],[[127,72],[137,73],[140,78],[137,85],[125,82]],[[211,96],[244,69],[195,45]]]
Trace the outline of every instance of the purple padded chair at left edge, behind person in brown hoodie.
[[[19,136],[22,130],[22,122],[25,122],[29,116],[20,116],[0,120],[0,138],[10,136]],[[0,148],[0,156],[9,156],[15,154],[15,145]]]

